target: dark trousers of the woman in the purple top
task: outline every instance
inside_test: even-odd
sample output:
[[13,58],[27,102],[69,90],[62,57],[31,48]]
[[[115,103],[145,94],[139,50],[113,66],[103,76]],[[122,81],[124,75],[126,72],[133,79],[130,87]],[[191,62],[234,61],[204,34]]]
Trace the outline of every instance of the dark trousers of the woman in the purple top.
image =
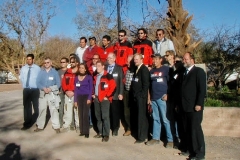
[[88,95],[77,96],[79,128],[82,134],[89,134],[89,109],[91,103],[87,104],[87,100]]

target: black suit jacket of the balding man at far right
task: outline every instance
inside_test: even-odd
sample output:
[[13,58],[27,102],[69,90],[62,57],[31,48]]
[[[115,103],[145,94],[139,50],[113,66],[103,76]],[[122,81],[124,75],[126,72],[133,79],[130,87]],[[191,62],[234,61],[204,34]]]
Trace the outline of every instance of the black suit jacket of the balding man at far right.
[[182,107],[185,112],[195,112],[195,106],[204,109],[206,95],[206,74],[202,68],[193,68],[184,76],[182,82]]

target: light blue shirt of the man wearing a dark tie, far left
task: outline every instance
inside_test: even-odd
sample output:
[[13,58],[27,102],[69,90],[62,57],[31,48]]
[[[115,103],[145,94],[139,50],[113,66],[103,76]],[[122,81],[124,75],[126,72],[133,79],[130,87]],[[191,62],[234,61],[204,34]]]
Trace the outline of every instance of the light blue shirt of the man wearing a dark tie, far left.
[[31,66],[26,64],[21,68],[20,80],[22,82],[22,87],[27,88],[26,83],[27,83],[27,75],[28,75],[29,67],[31,67],[31,72],[30,72],[29,87],[28,88],[37,88],[37,76],[38,76],[41,69],[36,64],[32,64]]

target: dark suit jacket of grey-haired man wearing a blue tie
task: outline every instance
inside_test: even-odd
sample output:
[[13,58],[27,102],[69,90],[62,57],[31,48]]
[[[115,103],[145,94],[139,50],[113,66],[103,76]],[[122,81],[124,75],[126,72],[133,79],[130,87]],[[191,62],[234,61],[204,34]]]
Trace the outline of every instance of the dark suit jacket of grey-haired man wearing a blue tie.
[[[105,70],[107,69],[108,69],[108,65],[106,65],[105,67]],[[124,89],[122,67],[115,64],[111,75],[113,76],[116,82],[116,92],[113,95],[113,100],[118,100],[118,95],[119,94],[123,95],[123,89]]]

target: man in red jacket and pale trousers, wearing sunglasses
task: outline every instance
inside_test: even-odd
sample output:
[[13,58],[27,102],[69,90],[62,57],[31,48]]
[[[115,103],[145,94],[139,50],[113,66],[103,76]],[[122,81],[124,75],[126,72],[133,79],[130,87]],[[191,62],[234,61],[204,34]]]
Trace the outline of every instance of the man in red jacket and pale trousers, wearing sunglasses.
[[[65,72],[62,78],[62,89],[65,93],[63,132],[69,131],[73,119],[74,80],[79,63],[79,58],[77,56],[70,58],[71,68]],[[76,126],[76,128],[77,127],[78,126]]]

